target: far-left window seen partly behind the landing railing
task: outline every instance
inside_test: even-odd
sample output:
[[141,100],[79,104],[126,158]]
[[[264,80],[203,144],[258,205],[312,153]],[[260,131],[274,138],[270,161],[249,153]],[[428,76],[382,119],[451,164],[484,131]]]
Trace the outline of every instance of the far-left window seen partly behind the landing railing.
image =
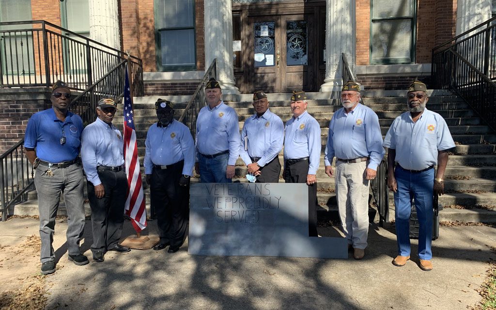
[[[0,22],[31,20],[31,0],[0,0]],[[1,26],[0,30],[29,29],[31,24]],[[0,56],[3,73],[34,73],[31,31],[1,33]]]

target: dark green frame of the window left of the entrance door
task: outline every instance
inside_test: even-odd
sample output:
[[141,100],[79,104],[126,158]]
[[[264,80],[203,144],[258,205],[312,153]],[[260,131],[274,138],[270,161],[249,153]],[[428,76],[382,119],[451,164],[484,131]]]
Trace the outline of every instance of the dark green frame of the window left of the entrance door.
[[[193,7],[192,7],[192,20],[193,20],[193,25],[191,27],[171,27],[171,28],[158,28],[157,27],[157,10],[158,10],[158,1],[165,1],[165,0],[155,0],[153,1],[153,17],[154,17],[154,29],[155,29],[155,65],[157,68],[157,71],[161,72],[170,72],[170,71],[192,71],[196,70],[196,0],[193,0]],[[194,43],[194,49],[193,49],[193,64],[192,65],[163,65],[162,64],[162,43],[160,40],[160,32],[161,31],[168,31],[168,30],[193,30],[193,43]]]

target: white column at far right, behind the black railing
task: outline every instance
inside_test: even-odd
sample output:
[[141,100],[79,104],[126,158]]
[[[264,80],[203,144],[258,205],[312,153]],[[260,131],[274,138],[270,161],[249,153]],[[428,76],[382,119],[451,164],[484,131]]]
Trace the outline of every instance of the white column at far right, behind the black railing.
[[491,18],[491,0],[458,0],[456,35],[474,28]]

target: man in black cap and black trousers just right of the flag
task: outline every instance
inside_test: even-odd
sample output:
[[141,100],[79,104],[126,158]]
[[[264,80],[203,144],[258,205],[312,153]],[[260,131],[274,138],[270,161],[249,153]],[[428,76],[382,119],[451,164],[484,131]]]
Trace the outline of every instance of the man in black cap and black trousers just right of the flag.
[[158,122],[151,125],[145,141],[145,175],[157,214],[161,250],[179,250],[186,238],[189,180],[193,174],[194,142],[189,128],[174,120],[174,105],[155,103]]

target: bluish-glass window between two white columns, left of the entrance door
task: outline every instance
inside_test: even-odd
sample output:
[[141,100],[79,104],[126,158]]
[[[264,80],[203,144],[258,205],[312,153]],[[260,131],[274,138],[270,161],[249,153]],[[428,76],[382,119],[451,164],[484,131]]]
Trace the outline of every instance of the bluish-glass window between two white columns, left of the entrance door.
[[194,30],[194,0],[155,1],[155,46],[158,70],[196,68]]

